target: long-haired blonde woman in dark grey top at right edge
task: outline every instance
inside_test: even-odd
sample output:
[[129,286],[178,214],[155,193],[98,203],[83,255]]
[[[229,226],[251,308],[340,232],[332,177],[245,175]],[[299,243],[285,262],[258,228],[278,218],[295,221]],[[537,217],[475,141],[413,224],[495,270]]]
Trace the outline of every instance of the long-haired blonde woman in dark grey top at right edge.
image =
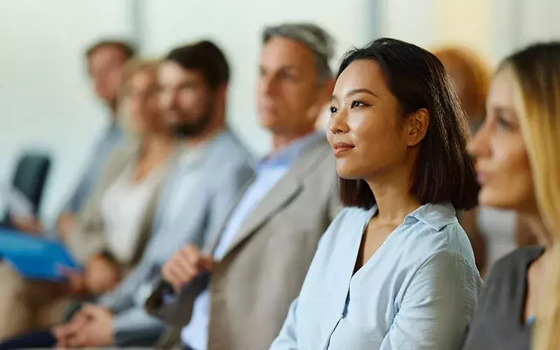
[[505,59],[486,109],[470,145],[479,202],[524,216],[539,246],[491,268],[464,349],[530,349],[535,325],[534,349],[560,349],[560,43]]

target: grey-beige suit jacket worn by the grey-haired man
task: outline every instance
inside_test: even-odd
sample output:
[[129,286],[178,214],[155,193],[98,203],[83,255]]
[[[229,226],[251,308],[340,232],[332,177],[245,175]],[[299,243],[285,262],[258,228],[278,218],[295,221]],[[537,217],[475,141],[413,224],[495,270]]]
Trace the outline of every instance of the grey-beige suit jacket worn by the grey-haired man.
[[[249,214],[209,279],[209,350],[268,349],[300,291],[321,235],[342,208],[337,179],[330,146],[319,139]],[[206,253],[214,251],[224,224],[205,246]],[[202,276],[169,304],[162,299],[165,283],[155,289],[146,307],[171,326],[162,347],[178,344],[195,297],[207,286]]]

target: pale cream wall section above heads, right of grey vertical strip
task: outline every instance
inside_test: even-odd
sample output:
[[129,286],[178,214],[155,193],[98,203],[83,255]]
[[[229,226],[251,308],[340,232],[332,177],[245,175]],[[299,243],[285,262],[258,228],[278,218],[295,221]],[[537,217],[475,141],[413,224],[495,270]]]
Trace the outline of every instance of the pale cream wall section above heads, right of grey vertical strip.
[[461,45],[491,65],[534,41],[560,39],[558,0],[373,0],[380,35],[433,49]]

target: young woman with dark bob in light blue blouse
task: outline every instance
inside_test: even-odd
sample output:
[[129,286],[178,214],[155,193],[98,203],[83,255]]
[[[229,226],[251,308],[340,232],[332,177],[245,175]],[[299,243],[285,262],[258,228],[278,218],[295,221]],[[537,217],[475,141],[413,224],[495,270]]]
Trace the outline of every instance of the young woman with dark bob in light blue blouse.
[[388,38],[352,50],[330,111],[353,208],[325,232],[271,349],[459,349],[481,281],[455,210],[478,186],[441,62]]

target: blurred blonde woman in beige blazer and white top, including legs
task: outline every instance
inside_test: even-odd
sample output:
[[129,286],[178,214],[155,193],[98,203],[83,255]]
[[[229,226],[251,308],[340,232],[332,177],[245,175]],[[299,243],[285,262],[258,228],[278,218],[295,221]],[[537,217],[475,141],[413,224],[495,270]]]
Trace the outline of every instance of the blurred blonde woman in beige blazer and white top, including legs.
[[73,231],[62,237],[84,272],[68,272],[68,288],[26,281],[1,266],[0,339],[59,323],[71,300],[111,290],[141,258],[167,165],[174,160],[174,139],[160,117],[157,69],[157,62],[149,61],[127,67],[120,119],[134,140],[113,151]]

